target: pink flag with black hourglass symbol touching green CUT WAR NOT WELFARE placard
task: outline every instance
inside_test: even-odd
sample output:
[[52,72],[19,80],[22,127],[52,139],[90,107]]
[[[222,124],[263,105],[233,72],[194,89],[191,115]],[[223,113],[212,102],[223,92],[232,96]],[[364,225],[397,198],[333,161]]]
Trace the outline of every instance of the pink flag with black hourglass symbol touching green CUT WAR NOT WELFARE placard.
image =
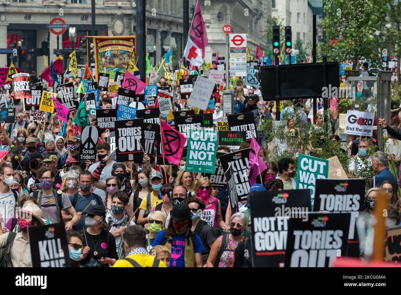
[[160,126],[162,129],[162,140],[163,140],[163,151],[164,158],[167,161],[180,165],[182,157],[182,151],[186,142],[186,136],[171,128],[170,125],[160,120]]

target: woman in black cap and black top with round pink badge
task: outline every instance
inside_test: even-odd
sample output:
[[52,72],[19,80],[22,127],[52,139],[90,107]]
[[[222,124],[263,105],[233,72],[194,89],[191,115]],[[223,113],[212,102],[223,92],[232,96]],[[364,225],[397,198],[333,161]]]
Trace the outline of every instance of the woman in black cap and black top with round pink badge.
[[101,205],[90,205],[85,212],[83,246],[89,247],[88,255],[81,260],[86,267],[109,267],[117,261],[117,248],[113,234],[108,232],[105,210]]

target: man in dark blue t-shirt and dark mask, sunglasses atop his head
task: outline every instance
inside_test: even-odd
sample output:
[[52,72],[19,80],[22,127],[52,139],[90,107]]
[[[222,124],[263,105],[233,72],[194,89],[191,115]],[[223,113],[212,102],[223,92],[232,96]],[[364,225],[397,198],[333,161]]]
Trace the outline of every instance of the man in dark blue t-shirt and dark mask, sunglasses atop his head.
[[[73,185],[73,184],[69,184]],[[82,213],[83,210],[87,207],[87,205],[91,202],[94,202],[96,205],[100,205],[104,207],[104,203],[102,198],[91,192],[92,187],[92,175],[89,171],[83,170],[79,175],[79,191],[74,193],[73,195],[69,195],[68,198],[78,212],[78,216],[80,218],[79,222],[74,226],[74,230],[79,232],[82,228],[86,228],[85,226],[85,218],[86,215]],[[91,207],[93,205],[90,205]]]

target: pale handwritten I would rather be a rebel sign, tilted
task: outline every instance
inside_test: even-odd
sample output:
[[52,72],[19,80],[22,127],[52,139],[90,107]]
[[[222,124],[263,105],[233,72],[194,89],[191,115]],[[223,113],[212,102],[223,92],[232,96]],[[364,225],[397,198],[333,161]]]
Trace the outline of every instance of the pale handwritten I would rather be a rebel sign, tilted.
[[194,83],[188,104],[194,108],[206,110],[216,82],[205,77],[198,77]]

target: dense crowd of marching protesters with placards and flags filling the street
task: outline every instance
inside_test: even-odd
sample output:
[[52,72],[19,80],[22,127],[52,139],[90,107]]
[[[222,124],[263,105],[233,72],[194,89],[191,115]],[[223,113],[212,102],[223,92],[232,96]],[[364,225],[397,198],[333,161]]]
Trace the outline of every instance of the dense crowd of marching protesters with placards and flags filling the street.
[[400,266],[398,81],[316,44],[292,62],[276,23],[254,55],[227,24],[208,60],[203,2],[182,56],[113,29],[0,69],[0,267]]

